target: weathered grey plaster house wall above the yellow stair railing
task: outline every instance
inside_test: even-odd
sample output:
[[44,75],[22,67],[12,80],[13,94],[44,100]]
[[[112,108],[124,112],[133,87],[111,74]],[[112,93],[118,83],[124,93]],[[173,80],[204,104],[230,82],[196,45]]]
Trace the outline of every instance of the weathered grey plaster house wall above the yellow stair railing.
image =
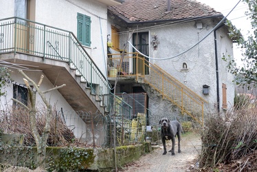
[[[197,28],[197,23],[202,23],[202,28]],[[207,100],[208,104],[205,104],[205,111],[208,113],[216,111],[217,103],[214,32],[211,32],[215,25],[216,22],[212,19],[203,19],[201,21],[170,24],[154,28],[148,28],[147,25],[140,25],[138,27],[139,32],[149,32],[150,41],[153,40],[153,35],[157,35],[159,41],[157,50],[153,50],[153,46],[149,45],[149,56],[151,58],[157,58],[150,59],[150,63],[159,65],[159,67],[177,78],[186,87],[189,87],[193,92]],[[136,26],[135,28],[129,29],[137,32]],[[203,39],[208,33],[210,33],[209,36],[193,47],[193,45]],[[227,105],[230,108],[234,100],[233,76],[227,72],[225,61],[221,58],[223,54],[233,56],[232,41],[228,38],[225,28],[217,30],[216,34],[219,61],[220,104],[222,105],[222,83],[225,83],[227,85]],[[122,45],[126,43],[128,35],[123,34],[120,38],[120,45]],[[190,47],[192,49],[188,50]],[[132,52],[131,46],[127,49],[129,52]],[[177,56],[178,54],[180,55]],[[167,59],[161,60],[161,58]],[[188,65],[188,70],[181,70],[183,69],[183,63]],[[210,86],[209,94],[203,94],[203,85]]]

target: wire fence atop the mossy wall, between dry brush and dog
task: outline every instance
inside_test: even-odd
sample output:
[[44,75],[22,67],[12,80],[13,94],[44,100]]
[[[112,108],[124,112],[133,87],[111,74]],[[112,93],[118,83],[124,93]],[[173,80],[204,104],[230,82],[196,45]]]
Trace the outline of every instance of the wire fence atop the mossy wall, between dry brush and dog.
[[96,112],[63,113],[69,129],[78,138],[78,142],[93,147],[113,147],[139,144],[144,142],[146,133],[146,115],[137,114],[136,118],[127,116],[103,116]]

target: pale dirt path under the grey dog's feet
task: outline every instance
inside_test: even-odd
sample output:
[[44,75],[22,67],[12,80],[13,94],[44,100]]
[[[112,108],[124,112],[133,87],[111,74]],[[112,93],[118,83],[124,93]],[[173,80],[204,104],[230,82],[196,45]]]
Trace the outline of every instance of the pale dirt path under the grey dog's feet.
[[[167,151],[171,149],[171,141],[168,142]],[[190,171],[188,166],[201,151],[201,139],[197,133],[186,133],[181,136],[181,153],[177,153],[177,138],[175,156],[171,153],[162,155],[164,149],[161,144],[152,153],[148,153],[136,162],[122,167],[124,172],[182,172]]]

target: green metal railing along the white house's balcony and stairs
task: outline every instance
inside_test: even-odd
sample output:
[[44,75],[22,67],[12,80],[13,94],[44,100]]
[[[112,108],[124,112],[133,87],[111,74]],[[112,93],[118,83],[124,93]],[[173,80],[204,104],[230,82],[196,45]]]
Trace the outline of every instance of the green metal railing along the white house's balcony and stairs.
[[67,62],[110,108],[109,83],[72,32],[12,17],[0,20],[0,54],[23,53]]

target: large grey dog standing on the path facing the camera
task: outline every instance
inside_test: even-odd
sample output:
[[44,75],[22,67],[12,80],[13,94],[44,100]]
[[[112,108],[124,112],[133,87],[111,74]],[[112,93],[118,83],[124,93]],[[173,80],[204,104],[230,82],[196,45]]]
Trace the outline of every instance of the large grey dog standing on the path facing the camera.
[[[159,120],[159,124],[161,125],[161,140],[162,144],[164,144],[164,153],[162,155],[166,155],[166,140],[171,140],[172,141],[172,149],[171,155],[175,155],[175,136],[177,135],[177,138],[179,139],[178,141],[178,147],[179,147],[179,153],[181,153],[180,150],[180,136],[181,136],[181,131],[182,127],[179,121],[177,120],[168,120],[168,118],[161,118]],[[169,152],[170,152],[169,151]]]

